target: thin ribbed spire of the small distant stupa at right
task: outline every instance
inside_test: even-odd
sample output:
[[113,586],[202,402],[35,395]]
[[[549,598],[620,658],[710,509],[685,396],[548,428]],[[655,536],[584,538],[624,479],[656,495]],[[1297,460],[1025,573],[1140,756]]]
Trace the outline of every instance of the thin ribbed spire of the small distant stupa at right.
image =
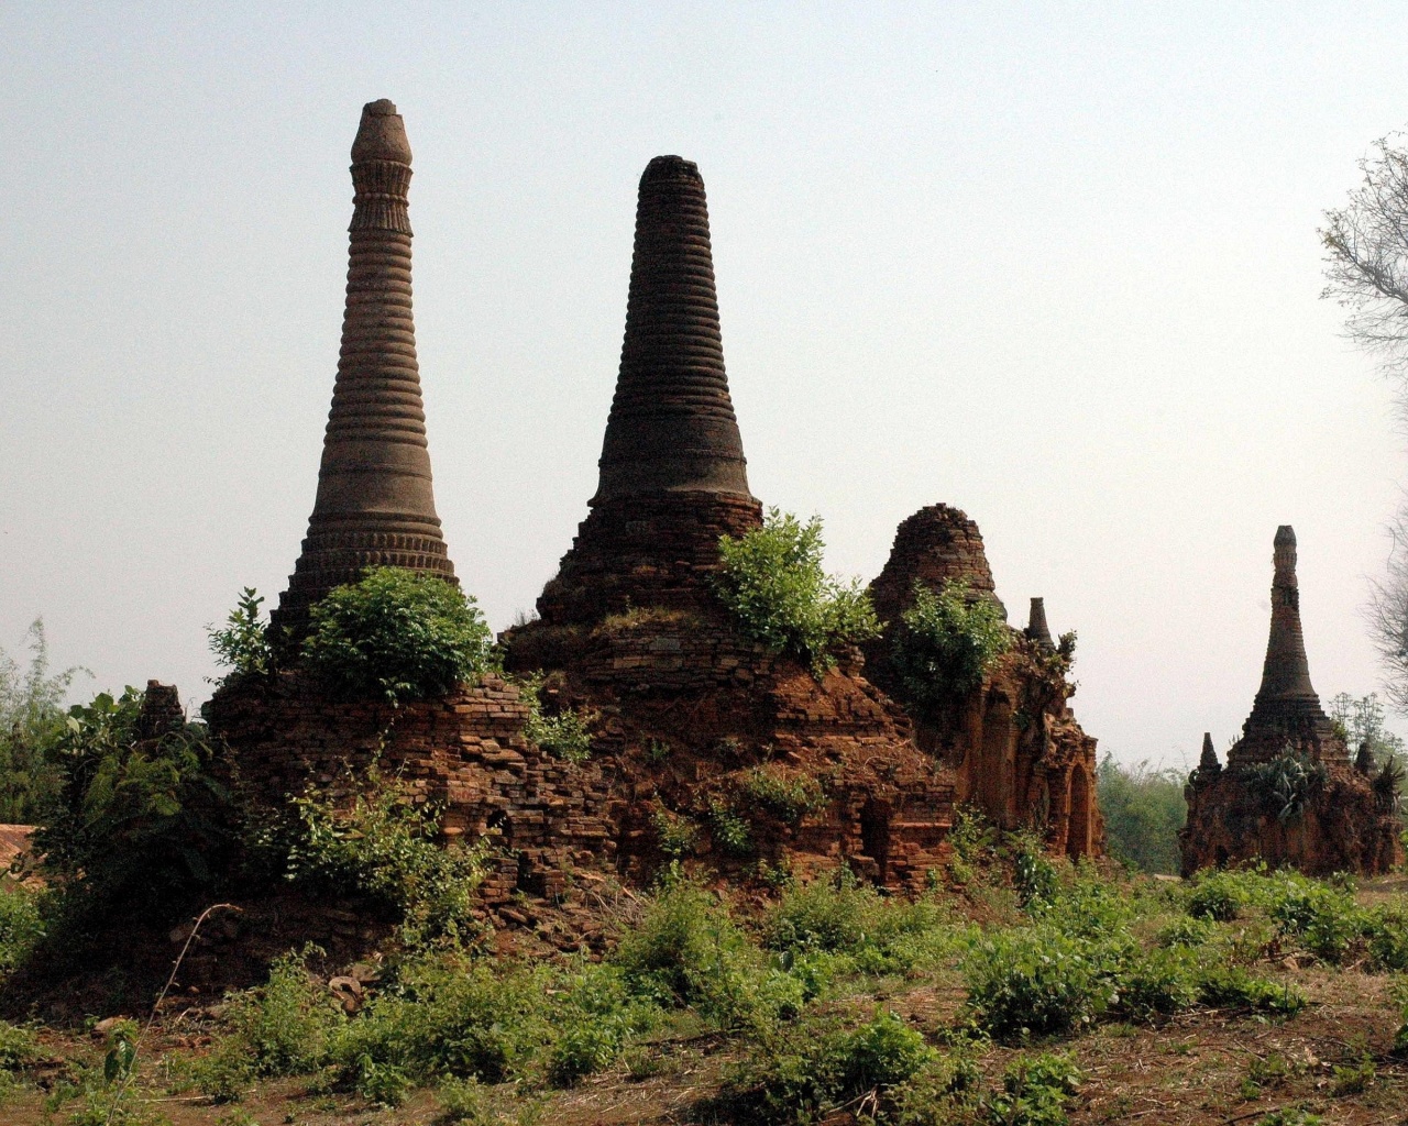
[[1329,746],[1333,742],[1331,722],[1311,685],[1295,578],[1295,531],[1288,524],[1276,529],[1273,564],[1271,632],[1266,642],[1262,687],[1242,728],[1243,738],[1229,757],[1260,760],[1287,746],[1314,749],[1318,754],[1322,745],[1329,753],[1343,756],[1343,746]]

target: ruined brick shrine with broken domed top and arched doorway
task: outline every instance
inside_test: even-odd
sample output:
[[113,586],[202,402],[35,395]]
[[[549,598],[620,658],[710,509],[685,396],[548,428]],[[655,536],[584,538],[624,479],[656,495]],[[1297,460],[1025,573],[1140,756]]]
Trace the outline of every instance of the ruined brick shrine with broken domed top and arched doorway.
[[[939,590],[963,583],[969,598],[990,601],[1007,618],[977,524],[943,504],[921,508],[894,536],[884,570],[870,584],[886,633],[866,646],[870,677],[904,700],[890,664],[895,624],[914,602],[915,584]],[[924,750],[955,771],[956,798],[1004,829],[1035,828],[1053,852],[1070,857],[1104,852],[1104,823],[1095,804],[1095,740],[1076,722],[1067,700],[1074,687],[1046,625],[1046,608],[1032,598],[1025,631],[983,685],[956,701],[950,715],[915,712]]]

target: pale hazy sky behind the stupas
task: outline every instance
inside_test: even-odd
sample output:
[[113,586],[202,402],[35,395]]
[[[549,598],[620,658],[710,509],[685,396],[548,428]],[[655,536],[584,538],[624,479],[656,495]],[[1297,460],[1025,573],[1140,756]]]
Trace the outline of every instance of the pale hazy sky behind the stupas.
[[1322,697],[1408,467],[1315,228],[1408,121],[1390,4],[0,4],[0,646],[214,674],[337,369],[348,149],[415,151],[436,500],[496,628],[596,484],[635,184],[698,162],[753,491],[874,576],[945,501],[1125,759],[1236,733],[1294,524]]

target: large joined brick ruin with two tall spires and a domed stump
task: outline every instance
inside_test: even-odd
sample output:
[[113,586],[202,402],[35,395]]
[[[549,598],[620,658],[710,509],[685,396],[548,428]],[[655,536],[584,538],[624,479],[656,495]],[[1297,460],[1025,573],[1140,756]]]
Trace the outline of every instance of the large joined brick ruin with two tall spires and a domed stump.
[[[352,149],[346,314],[317,501],[275,614],[290,643],[317,598],[369,566],[456,581],[415,363],[410,159],[394,106],[370,103]],[[918,888],[946,857],[957,799],[1002,825],[1048,828],[1073,856],[1100,852],[1094,740],[1064,707],[1048,633],[1018,638],[959,725],[921,728],[917,742],[904,709],[862,676],[859,650],[815,676],[743,636],[714,597],[719,536],[760,526],[762,505],[724,367],[704,183],[677,156],[650,160],[641,179],[589,507],[539,616],[501,642],[511,673],[542,677],[546,709],[590,716],[590,760],[531,743],[528,707],[498,677],[393,709],[327,700],[290,670],[231,683],[207,705],[241,784],[270,802],[310,785],[349,795],[376,761],[417,801],[444,806],[446,835],[497,836],[505,859],[484,894],[501,908],[515,891],[559,895],[574,875],[646,878],[670,856],[725,874],[805,877],[845,863]],[[960,574],[995,601],[976,525],[924,510],[876,580],[881,615],[903,609],[917,578]],[[729,819],[746,821],[746,849]]]

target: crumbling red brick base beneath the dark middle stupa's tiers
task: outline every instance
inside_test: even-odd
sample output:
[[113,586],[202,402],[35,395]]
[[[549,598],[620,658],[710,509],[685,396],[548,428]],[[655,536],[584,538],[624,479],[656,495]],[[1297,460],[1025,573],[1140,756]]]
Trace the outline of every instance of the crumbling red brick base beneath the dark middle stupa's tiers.
[[[721,615],[673,609],[594,626],[535,622],[504,640],[510,669],[548,673],[559,705],[597,715],[594,756],[629,787],[617,859],[632,880],[669,863],[662,821],[697,826],[686,866],[725,875],[805,880],[845,864],[919,890],[948,857],[952,770],[919,750],[903,712],[859,674],[859,653],[817,677]],[[753,795],[758,771],[819,784],[825,801],[783,816]],[[748,821],[749,849],[729,850],[717,809]]]

